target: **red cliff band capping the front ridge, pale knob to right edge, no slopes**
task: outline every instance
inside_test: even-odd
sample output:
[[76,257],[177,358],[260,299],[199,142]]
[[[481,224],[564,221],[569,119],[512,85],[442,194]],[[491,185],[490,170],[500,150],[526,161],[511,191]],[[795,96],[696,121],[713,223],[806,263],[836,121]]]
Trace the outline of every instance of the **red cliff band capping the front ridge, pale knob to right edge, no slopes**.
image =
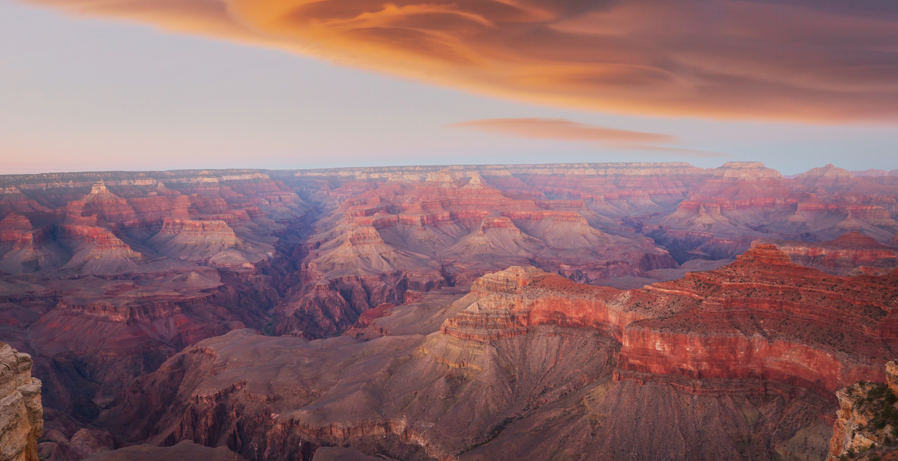
[[880,378],[894,353],[896,280],[898,272],[833,277],[791,264],[770,245],[626,293],[513,267],[472,285],[470,306],[441,331],[490,341],[539,325],[592,327],[623,344],[621,376],[758,378],[834,392]]

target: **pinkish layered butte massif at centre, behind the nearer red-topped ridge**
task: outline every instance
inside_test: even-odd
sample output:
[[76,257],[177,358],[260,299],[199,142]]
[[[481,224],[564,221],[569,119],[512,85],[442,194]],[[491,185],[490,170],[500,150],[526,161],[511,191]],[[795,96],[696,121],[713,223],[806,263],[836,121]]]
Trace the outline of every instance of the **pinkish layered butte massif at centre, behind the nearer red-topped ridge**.
[[405,290],[468,284],[508,265],[581,282],[677,267],[648,239],[594,228],[601,219],[582,201],[510,197],[466,175],[368,183],[339,204],[309,239],[304,289],[278,308],[276,333],[339,333]]

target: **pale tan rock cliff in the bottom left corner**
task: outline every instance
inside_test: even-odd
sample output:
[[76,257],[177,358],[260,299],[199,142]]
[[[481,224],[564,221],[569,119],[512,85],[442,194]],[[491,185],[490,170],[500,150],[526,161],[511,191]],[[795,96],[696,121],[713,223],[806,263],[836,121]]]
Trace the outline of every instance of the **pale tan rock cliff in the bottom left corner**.
[[31,356],[0,343],[0,459],[38,461],[43,432],[40,379],[31,377]]

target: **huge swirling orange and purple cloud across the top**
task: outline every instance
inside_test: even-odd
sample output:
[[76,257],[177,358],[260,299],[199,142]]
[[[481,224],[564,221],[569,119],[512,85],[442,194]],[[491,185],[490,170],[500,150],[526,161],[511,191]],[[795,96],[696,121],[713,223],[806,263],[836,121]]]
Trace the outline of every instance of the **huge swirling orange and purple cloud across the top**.
[[898,118],[890,0],[31,2],[579,109]]

